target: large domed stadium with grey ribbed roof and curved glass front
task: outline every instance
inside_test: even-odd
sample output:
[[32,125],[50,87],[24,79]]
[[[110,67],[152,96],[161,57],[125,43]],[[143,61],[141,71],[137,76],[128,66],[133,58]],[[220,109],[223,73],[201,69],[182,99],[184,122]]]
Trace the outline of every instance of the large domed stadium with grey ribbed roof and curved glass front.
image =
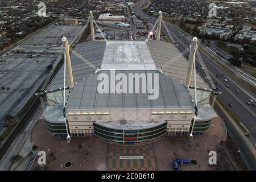
[[[192,63],[174,44],[157,40],[90,41],[76,44],[71,52],[65,81],[68,86],[64,86],[63,65],[44,90],[47,107],[43,117],[50,134],[142,144],[163,135],[204,134],[210,129],[212,90],[196,73],[196,107]],[[69,51],[66,55],[68,59]],[[106,90],[121,82],[122,92],[98,92],[102,74],[107,78]],[[114,79],[113,83],[111,78],[119,74],[122,80]],[[124,81],[129,75],[139,78]],[[148,99],[152,96],[148,77],[152,78],[152,88],[158,81],[157,98]],[[129,92],[124,92],[126,87]]]

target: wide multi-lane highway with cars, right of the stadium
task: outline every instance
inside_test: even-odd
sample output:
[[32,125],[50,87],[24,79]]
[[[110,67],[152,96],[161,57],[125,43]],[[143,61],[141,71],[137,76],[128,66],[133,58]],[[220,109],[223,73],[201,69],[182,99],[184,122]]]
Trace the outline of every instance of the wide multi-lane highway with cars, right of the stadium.
[[[142,1],[143,2],[143,1]],[[141,3],[138,3],[134,6],[134,11],[137,15],[142,16],[146,19],[146,21],[149,24],[154,24],[156,19],[152,18],[151,16],[146,15],[141,10]],[[167,28],[169,32],[171,33],[172,38],[175,40],[175,44],[177,46],[177,49],[179,49],[180,52],[183,52],[185,49],[189,49],[189,45],[191,44],[191,38],[188,39],[188,36],[184,33],[179,31],[176,27],[172,26],[172,24],[167,23]],[[166,35],[168,35],[167,30],[162,26],[162,32]],[[229,104],[232,104],[233,107],[230,107],[230,109],[233,111],[233,113],[237,116],[237,118],[240,119],[240,121],[245,125],[245,127],[249,130],[251,137],[249,138],[253,146],[255,146],[255,138],[256,138],[256,107],[252,105],[246,104],[247,101],[250,102],[250,100],[254,101],[254,104],[256,102],[255,100],[255,94],[251,92],[251,90],[245,90],[243,89],[244,86],[240,83],[238,83],[232,76],[230,76],[228,73],[226,73],[223,69],[221,69],[213,60],[209,59],[206,55],[204,55],[203,52],[199,51],[201,54],[201,57],[204,61],[204,64],[206,65],[210,76],[212,77],[213,82],[215,83],[216,87],[218,88],[218,91],[222,92],[219,97],[224,100],[226,103],[226,107],[230,107]],[[210,52],[210,51],[209,51]],[[212,53],[210,53],[212,55]],[[189,52],[184,54],[184,57],[188,59]],[[215,57],[215,56],[213,56]],[[196,71],[200,74],[202,78],[207,77],[205,75],[205,72],[203,69],[201,69],[201,65],[199,61],[197,60],[197,68]],[[219,74],[220,76],[217,78],[216,74]],[[223,76],[222,76],[223,75]],[[227,81],[225,81],[225,79]],[[209,83],[209,80],[207,81],[208,85],[211,85]],[[218,82],[218,84],[216,84]],[[228,87],[226,85],[229,85]],[[238,90],[238,91],[237,91]],[[215,107],[214,107],[215,109]],[[222,113],[220,110],[217,110],[220,117],[222,117]],[[223,119],[223,118],[222,118]],[[227,119],[225,119],[227,121]],[[232,127],[228,127],[228,131],[230,135],[236,136],[234,139],[238,138],[236,131],[234,129],[232,130]],[[241,147],[240,150],[243,151],[244,158],[246,158],[247,161],[251,159],[251,156],[245,148],[245,144],[242,142],[242,140],[238,140],[240,144],[238,144],[238,147]],[[245,152],[246,151],[246,152]],[[255,160],[255,158],[254,158]],[[247,162],[250,169],[256,169],[256,163],[249,163]]]

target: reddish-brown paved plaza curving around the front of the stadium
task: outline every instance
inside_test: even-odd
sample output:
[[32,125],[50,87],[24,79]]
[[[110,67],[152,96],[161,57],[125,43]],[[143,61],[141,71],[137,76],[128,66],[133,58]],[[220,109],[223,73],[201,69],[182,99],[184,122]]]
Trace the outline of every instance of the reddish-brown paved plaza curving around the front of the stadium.
[[[32,131],[32,142],[47,153],[47,164],[37,164],[32,170],[173,170],[172,162],[177,158],[195,159],[199,165],[181,165],[181,170],[234,170],[225,151],[218,143],[225,137],[225,131],[218,118],[213,119],[211,129],[204,135],[195,136],[190,142],[187,136],[162,137],[144,146],[116,146],[105,143],[97,137],[72,138],[67,144],[65,138],[56,138],[47,132],[45,123],[39,120]],[[209,166],[208,151],[217,151],[217,165]],[[49,150],[49,151],[48,151]],[[120,159],[120,156],[142,156],[142,159]],[[61,167],[71,161],[71,168]]]

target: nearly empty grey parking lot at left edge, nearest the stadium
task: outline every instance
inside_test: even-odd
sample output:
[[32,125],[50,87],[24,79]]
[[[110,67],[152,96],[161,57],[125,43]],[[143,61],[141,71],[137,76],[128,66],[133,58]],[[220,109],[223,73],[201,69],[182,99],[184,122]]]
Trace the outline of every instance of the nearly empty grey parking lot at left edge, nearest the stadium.
[[56,55],[9,55],[0,59],[0,130],[6,115],[18,114],[47,76]]

